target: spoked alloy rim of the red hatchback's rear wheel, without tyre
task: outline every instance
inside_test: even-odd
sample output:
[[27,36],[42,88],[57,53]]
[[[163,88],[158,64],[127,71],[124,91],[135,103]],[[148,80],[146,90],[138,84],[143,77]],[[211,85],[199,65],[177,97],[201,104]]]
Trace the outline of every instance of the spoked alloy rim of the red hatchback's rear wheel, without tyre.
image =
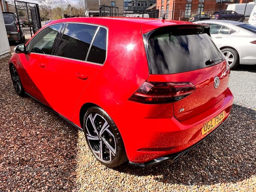
[[90,113],[85,126],[93,154],[102,162],[111,162],[116,156],[116,140],[107,120],[98,113]]

